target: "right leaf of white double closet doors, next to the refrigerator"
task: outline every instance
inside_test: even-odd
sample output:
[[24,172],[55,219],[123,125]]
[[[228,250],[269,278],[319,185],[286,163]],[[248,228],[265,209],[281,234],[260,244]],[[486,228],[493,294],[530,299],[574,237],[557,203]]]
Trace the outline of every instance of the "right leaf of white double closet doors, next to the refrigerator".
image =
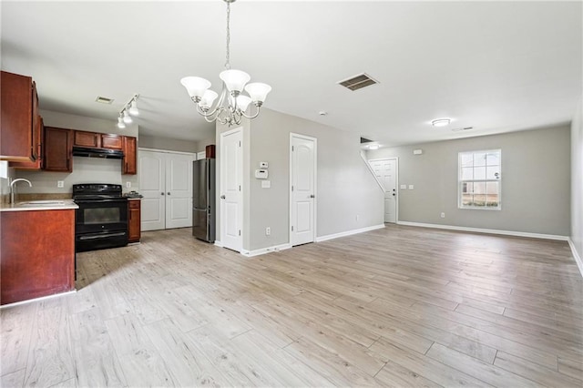
[[192,226],[194,155],[166,154],[166,229]]

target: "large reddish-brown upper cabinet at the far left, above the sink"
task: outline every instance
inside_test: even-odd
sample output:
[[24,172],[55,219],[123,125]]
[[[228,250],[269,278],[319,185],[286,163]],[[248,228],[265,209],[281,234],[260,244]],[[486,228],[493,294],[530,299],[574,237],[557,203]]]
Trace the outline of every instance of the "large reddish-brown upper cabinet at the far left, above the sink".
[[40,129],[38,97],[32,77],[3,71],[0,84],[0,159],[36,162],[39,158]]

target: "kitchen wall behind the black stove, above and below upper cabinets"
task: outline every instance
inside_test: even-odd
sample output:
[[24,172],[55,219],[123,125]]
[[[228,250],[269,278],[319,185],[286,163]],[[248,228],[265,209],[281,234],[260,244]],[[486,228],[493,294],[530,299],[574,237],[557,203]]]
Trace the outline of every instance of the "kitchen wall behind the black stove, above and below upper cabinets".
[[[41,116],[46,127],[69,128],[87,130],[100,133],[115,133],[138,138],[138,125],[133,123],[125,129],[116,127],[117,121],[101,118],[68,115],[60,112],[41,110]],[[138,138],[138,142],[141,139]],[[138,190],[138,175],[122,175],[121,160],[100,158],[73,158],[73,172],[25,171],[11,168],[12,178],[26,178],[33,183],[32,188],[26,184],[19,184],[16,189],[19,193],[71,193],[77,183],[118,183],[124,190]],[[56,187],[57,180],[64,180],[65,187]],[[126,188],[126,183],[131,185]]]

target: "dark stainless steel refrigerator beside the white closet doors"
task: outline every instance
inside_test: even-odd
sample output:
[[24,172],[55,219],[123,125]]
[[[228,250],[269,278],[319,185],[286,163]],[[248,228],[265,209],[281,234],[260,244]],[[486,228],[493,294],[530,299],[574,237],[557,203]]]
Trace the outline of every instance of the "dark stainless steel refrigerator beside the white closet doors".
[[199,240],[215,240],[215,159],[193,162],[192,179],[192,235]]

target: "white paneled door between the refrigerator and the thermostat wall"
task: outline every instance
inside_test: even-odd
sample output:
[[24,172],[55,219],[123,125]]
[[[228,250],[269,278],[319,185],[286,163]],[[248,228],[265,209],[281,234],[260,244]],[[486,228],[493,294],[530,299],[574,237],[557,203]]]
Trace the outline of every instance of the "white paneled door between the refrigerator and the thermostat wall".
[[243,132],[240,128],[220,135],[220,242],[243,249]]

